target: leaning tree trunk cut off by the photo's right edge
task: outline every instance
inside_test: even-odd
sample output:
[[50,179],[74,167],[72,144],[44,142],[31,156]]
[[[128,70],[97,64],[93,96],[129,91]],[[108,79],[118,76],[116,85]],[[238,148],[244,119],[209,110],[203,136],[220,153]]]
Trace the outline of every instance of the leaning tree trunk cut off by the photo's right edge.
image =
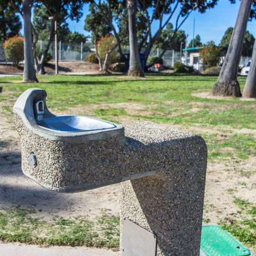
[[252,60],[244,86],[243,98],[256,98],[256,41],[253,45]]

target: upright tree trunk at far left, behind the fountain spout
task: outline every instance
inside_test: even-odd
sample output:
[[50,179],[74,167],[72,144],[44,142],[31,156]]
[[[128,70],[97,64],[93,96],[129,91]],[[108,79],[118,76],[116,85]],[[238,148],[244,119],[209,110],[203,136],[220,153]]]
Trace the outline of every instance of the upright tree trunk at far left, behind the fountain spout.
[[24,23],[24,71],[23,82],[38,82],[33,57],[31,32],[31,7],[29,0],[22,0]]

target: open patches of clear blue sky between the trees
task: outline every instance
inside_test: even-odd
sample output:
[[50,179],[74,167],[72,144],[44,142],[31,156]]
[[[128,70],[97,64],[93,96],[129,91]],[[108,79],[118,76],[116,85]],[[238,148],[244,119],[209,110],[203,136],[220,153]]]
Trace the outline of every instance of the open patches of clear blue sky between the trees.
[[[226,29],[234,27],[239,4],[240,1],[236,1],[236,4],[230,4],[229,0],[219,0],[213,9],[207,10],[203,14],[197,11],[191,13],[180,29],[185,30],[185,33],[188,34],[188,42],[190,42],[193,38],[193,23],[195,19],[195,35],[199,34],[203,43],[213,40],[216,44],[219,44]],[[83,13],[84,15],[78,23],[68,20],[69,29],[89,35],[84,30],[84,19],[89,13],[88,5],[84,6]],[[157,25],[155,24],[155,26]],[[247,29],[256,37],[256,21],[249,21]]]

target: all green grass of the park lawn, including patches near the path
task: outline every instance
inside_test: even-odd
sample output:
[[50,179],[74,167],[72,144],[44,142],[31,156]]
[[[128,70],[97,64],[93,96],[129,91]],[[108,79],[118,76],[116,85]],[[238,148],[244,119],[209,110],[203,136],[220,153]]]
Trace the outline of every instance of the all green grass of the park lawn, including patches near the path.
[[[146,78],[141,79],[129,79],[114,75],[45,75],[38,76],[39,84],[21,83],[20,79],[19,76],[0,78],[0,86],[3,86],[3,93],[0,94],[1,113],[10,119],[12,106],[17,97],[29,87],[40,87],[47,91],[47,105],[53,112],[54,110],[68,112],[76,108],[78,114],[90,114],[115,122],[120,122],[120,117],[125,117],[169,123],[195,131],[205,139],[209,150],[209,161],[212,163],[214,161],[238,163],[256,156],[255,100],[211,99],[194,95],[210,91],[217,81],[216,76],[157,74],[146,75]],[[245,77],[238,78],[241,89],[245,79]],[[136,111],[131,110],[132,106]],[[238,133],[239,129],[247,129],[247,132]],[[241,176],[250,177],[252,173],[253,169],[247,172],[241,171]],[[230,194],[233,193],[231,190],[231,188],[227,189]],[[256,248],[255,207],[251,203],[241,206],[240,204],[245,201],[241,202],[234,198],[234,204],[239,206],[243,219],[233,219],[234,225],[223,220],[221,225],[242,242]],[[27,243],[84,244],[110,248],[118,246],[118,238],[116,238],[118,219],[114,216],[110,215],[108,217],[110,219],[106,220],[107,217],[102,215],[103,217],[99,217],[95,222],[83,221],[79,218],[56,219],[49,224],[31,219],[30,213],[25,210],[13,211],[3,209],[0,213],[0,227],[4,230],[0,231],[0,239],[3,241],[22,242],[22,239],[26,238]],[[16,214],[16,217],[11,218],[12,214]],[[20,214],[23,214],[22,218],[28,223],[26,227],[19,222]],[[13,227],[17,227],[18,233],[15,233],[15,230],[10,231],[10,219],[14,222],[17,220],[18,224],[13,222]],[[59,233],[53,236],[51,226],[59,227]],[[29,229],[26,229],[28,227]],[[29,233],[35,232],[36,229],[41,230],[38,227],[47,230],[43,233],[46,235],[41,237],[40,232],[36,233],[33,240]],[[87,234],[88,239],[86,237],[82,239],[81,234]],[[245,234],[244,238],[241,234]]]

